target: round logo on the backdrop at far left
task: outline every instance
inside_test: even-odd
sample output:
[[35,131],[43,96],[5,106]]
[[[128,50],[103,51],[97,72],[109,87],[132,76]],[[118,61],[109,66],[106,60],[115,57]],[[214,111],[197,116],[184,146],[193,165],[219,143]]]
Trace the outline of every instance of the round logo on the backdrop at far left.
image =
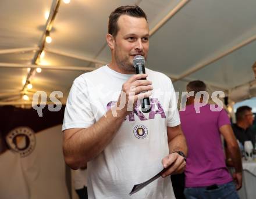
[[12,151],[26,157],[35,149],[35,134],[29,127],[20,126],[8,133],[6,142]]

